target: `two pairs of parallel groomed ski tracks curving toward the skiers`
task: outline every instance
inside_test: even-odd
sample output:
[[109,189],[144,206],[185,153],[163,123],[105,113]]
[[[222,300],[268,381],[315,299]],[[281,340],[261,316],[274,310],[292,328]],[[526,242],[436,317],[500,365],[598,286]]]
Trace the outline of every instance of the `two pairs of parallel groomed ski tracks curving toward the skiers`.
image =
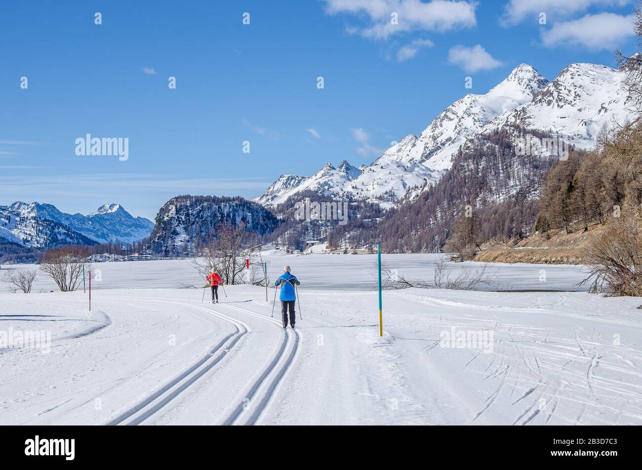
[[[175,399],[179,394],[182,394],[182,392],[193,385],[197,379],[204,376],[204,374],[213,369],[213,367],[223,360],[223,358],[227,357],[230,350],[239,342],[239,340],[251,331],[250,327],[245,324],[245,322],[234,317],[229,317],[228,315],[211,308],[170,300],[146,300],[166,302],[204,311],[214,315],[214,317],[231,323],[234,325],[236,331],[222,338],[220,342],[218,342],[218,344],[216,344],[207,354],[202,356],[202,358],[196,361],[195,364],[191,365],[191,367],[178,374],[176,378],[153,392],[140,403],[137,403],[137,405],[123,413],[120,413],[116,418],[107,422],[107,425],[137,425],[142,424],[150,417],[153,417],[153,415],[159,412],[159,410],[168,405],[170,401],[173,401],[173,399]],[[254,313],[244,308],[231,306],[229,304],[216,304],[216,307],[229,308],[238,313],[242,313],[243,315],[248,315],[270,324],[274,324],[279,329],[282,328],[279,320],[265,317],[264,315]],[[288,369],[290,369],[290,365],[293,363],[298,351],[299,341],[300,336],[297,331],[288,330],[284,332],[283,340],[277,354],[273,356],[268,366],[263,370],[263,372],[261,372],[260,376],[256,380],[249,385],[246,385],[245,388],[241,388],[243,390],[243,394],[241,394],[242,399],[238,400],[238,405],[234,406],[234,409],[229,413],[229,415],[227,415],[222,424],[256,424],[261,417],[261,414],[266,410],[268,405],[270,405],[270,401],[275,395],[275,392],[277,392],[283,376],[286,374]]]

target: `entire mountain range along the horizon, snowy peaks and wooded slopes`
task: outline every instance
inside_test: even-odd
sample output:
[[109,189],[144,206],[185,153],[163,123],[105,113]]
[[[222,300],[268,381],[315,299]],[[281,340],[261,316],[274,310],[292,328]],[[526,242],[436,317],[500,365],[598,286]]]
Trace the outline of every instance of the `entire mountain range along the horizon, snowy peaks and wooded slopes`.
[[[419,136],[406,135],[370,165],[357,168],[343,160],[312,176],[281,175],[251,201],[177,196],[160,208],[155,222],[134,218],[118,204],[83,216],[49,204],[15,202],[0,206],[0,239],[48,247],[148,238],[145,250],[172,256],[198,252],[221,222],[247,222],[249,230],[266,235],[264,241],[293,246],[309,237],[335,245],[370,243],[374,233],[386,233],[388,244],[397,243],[399,250],[439,250],[465,200],[491,209],[504,204],[504,214],[528,206],[528,214],[518,215],[530,220],[531,202],[556,160],[548,154],[517,155],[516,139],[535,134],[593,148],[604,126],[634,117],[622,86],[626,77],[626,71],[604,65],[571,64],[549,82],[521,64],[489,92],[455,101]],[[293,217],[299,200],[315,195],[349,202],[349,223]],[[515,225],[528,228],[526,222]],[[404,235],[408,231],[410,236]]]

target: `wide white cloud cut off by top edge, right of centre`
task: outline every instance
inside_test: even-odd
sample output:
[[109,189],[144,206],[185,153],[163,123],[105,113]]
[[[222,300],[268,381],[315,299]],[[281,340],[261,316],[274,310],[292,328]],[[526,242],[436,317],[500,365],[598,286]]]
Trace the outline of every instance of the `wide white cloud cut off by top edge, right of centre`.
[[[329,15],[367,16],[367,26],[349,26],[347,31],[358,31],[374,39],[386,39],[404,31],[449,31],[477,24],[477,3],[469,0],[325,0],[325,3],[325,12]],[[392,22],[393,13],[397,13],[397,24]]]

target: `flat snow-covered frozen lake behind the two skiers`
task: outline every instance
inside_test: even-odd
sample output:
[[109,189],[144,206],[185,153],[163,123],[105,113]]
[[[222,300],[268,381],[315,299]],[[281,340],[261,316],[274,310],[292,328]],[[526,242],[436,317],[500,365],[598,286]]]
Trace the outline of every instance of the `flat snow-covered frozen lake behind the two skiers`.
[[[384,254],[383,260],[408,279],[432,281],[435,266],[441,254]],[[193,267],[193,259],[166,261],[123,261],[94,263],[100,270],[100,281],[92,289],[180,288],[186,285],[200,287],[204,281]],[[263,256],[268,263],[268,276],[274,281],[282,274],[283,265],[291,265],[292,273],[305,290],[376,290],[376,255],[270,255]],[[464,268],[479,269],[481,263],[450,263],[453,274]],[[584,279],[582,266],[507,265],[492,263],[497,272],[498,290],[544,290],[586,292],[587,286],[577,286]],[[37,268],[34,265],[4,266],[6,268]],[[42,274],[37,277],[34,292],[58,290],[53,281]]]

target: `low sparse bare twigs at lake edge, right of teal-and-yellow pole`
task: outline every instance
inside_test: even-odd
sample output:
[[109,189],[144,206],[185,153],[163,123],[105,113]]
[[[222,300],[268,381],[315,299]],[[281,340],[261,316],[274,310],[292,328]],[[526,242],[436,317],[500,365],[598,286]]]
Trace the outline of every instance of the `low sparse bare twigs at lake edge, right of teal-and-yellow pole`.
[[497,270],[490,265],[481,265],[480,268],[453,269],[453,266],[441,259],[435,266],[433,281],[410,280],[399,273],[388,263],[381,263],[381,284],[387,290],[421,288],[421,289],[452,289],[475,290],[482,286],[496,287]]

